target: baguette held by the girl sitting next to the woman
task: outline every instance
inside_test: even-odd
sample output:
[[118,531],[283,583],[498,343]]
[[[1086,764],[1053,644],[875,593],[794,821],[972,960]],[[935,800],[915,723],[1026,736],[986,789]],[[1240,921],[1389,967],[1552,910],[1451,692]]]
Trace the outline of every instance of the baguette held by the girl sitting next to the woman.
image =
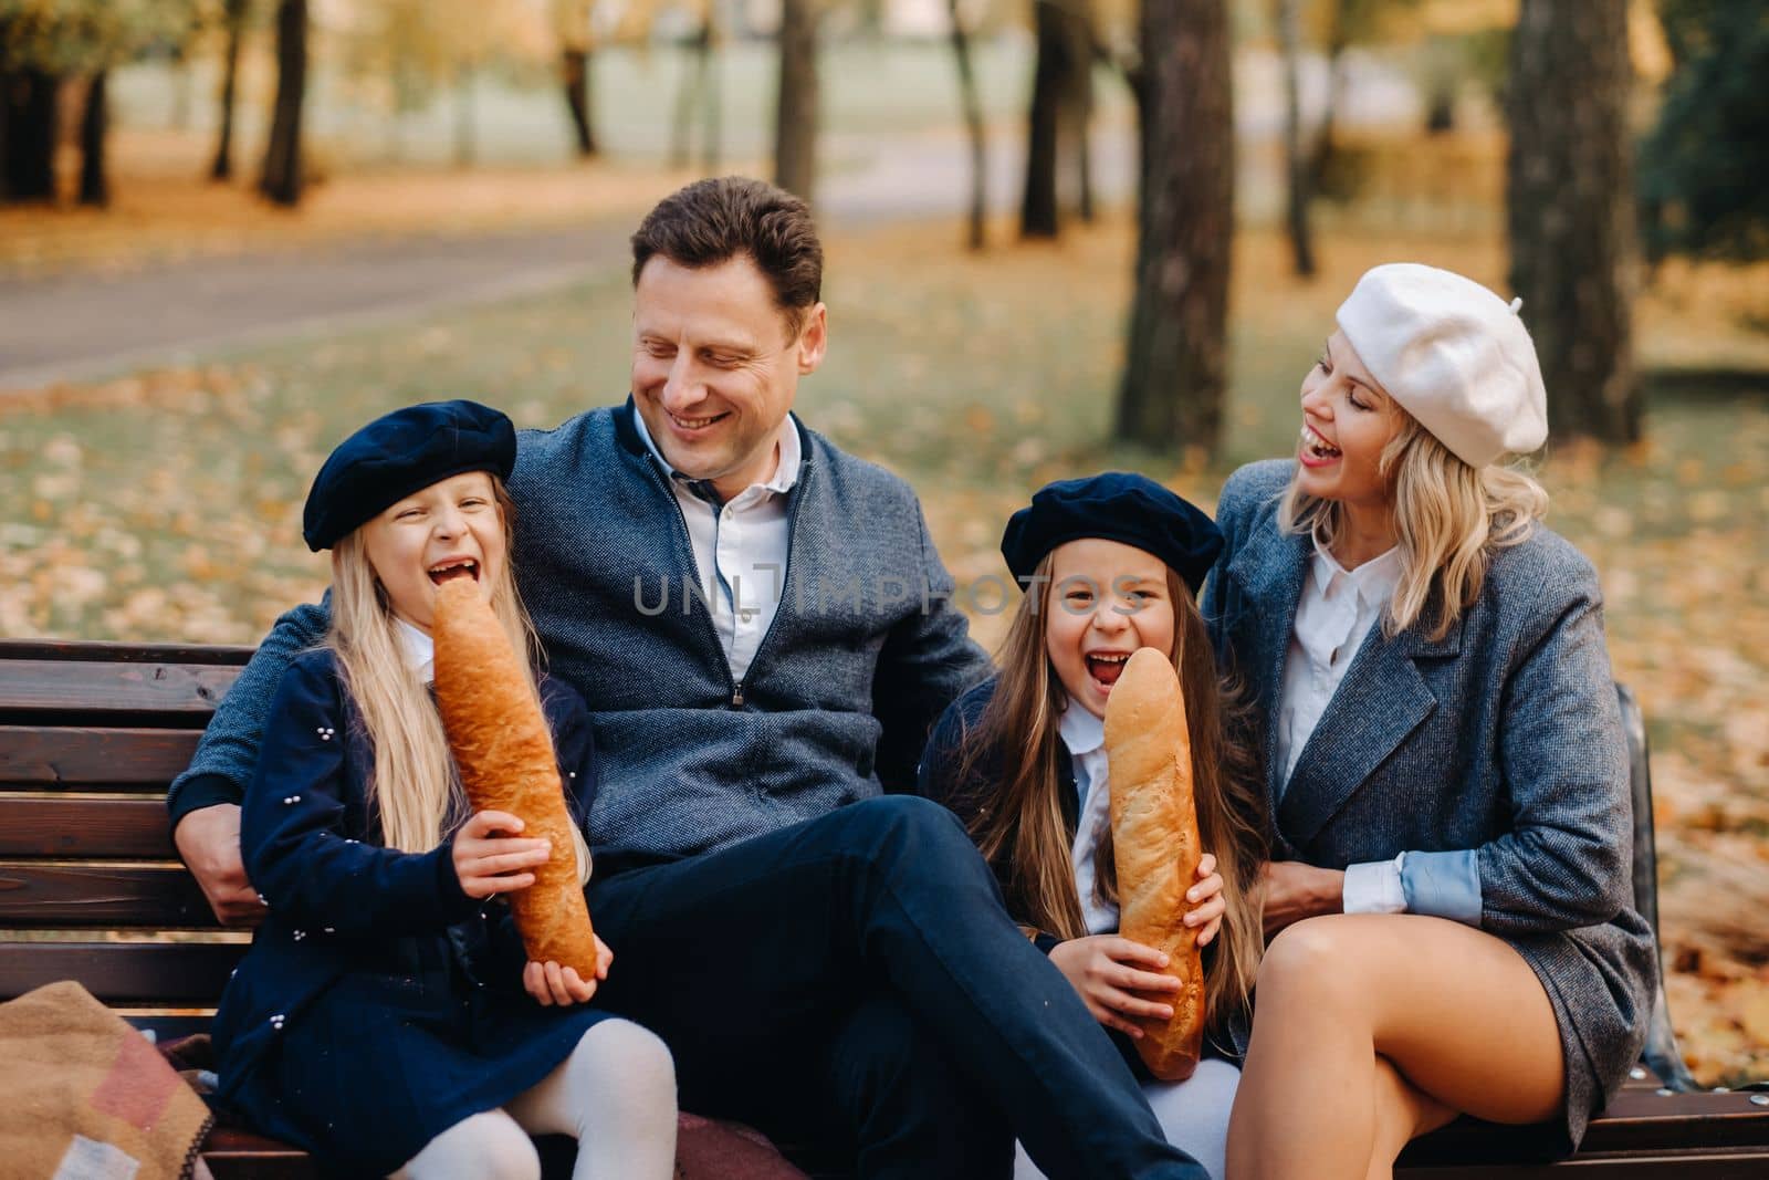
[[1137,1053],[1162,1081],[1191,1077],[1205,1033],[1205,971],[1198,934],[1185,925],[1185,890],[1203,856],[1192,800],[1192,741],[1180,678],[1168,658],[1143,647],[1106,697],[1106,761],[1118,865],[1118,932],[1164,950],[1166,975],[1180,980],[1173,1019],[1141,1019]]

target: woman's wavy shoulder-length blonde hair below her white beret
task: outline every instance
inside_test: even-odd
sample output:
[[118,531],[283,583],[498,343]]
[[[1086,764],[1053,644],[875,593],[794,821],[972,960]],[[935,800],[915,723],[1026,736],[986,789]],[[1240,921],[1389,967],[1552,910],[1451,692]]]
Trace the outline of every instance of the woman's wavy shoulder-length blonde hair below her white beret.
[[[1470,467],[1417,418],[1399,405],[1394,412],[1401,428],[1382,449],[1378,471],[1392,492],[1401,579],[1382,614],[1382,633],[1392,639],[1417,623],[1436,640],[1474,605],[1493,550],[1528,540],[1548,513],[1548,492],[1521,467]],[[1307,495],[1291,478],[1277,525],[1313,533],[1330,548],[1343,513],[1337,501]]]

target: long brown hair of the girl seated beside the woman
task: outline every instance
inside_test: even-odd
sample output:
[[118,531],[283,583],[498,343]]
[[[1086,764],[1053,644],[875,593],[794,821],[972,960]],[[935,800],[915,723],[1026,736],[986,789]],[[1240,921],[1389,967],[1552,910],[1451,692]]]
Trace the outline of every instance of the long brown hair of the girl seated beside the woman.
[[[1088,934],[1070,862],[1068,828],[1056,777],[1058,722],[1068,704],[1044,644],[1051,609],[1051,564],[1038,563],[1038,593],[1028,593],[998,653],[994,697],[964,734],[957,782],[973,791],[971,839],[991,863],[1005,865],[1008,911],[1058,938]],[[1265,793],[1258,759],[1245,739],[1238,686],[1219,676],[1210,635],[1191,589],[1168,570],[1175,639],[1166,653],[1185,693],[1192,741],[1192,798],[1203,849],[1217,858],[1228,913],[1205,971],[1212,1028],[1249,1010],[1265,950],[1260,870],[1268,858]],[[1079,706],[1077,706],[1079,708]],[[999,759],[999,761],[998,761]],[[1116,904],[1118,869],[1111,830],[1095,853],[1095,893]]]

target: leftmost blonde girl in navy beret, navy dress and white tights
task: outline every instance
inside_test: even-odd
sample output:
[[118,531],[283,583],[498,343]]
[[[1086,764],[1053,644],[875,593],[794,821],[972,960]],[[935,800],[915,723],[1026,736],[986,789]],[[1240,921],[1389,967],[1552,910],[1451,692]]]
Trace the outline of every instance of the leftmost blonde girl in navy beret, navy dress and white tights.
[[[532,656],[509,570],[509,419],[414,405],[345,441],[308,495],[333,550],[331,632],[278,690],[241,847],[267,916],[214,1021],[218,1104],[313,1152],[325,1175],[534,1178],[529,1132],[578,1139],[584,1176],[669,1176],[663,1042],[589,1007],[596,978],[527,962],[506,897],[571,847],[469,814],[430,695],[437,586],[474,579]],[[582,699],[529,676],[573,814],[596,764]]]

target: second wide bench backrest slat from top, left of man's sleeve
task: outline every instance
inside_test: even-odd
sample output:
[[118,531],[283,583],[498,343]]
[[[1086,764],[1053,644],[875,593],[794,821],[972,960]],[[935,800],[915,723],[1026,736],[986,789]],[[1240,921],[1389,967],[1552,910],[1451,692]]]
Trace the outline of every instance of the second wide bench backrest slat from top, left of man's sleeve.
[[0,784],[42,789],[142,785],[165,794],[191,764],[200,736],[196,729],[0,725]]

